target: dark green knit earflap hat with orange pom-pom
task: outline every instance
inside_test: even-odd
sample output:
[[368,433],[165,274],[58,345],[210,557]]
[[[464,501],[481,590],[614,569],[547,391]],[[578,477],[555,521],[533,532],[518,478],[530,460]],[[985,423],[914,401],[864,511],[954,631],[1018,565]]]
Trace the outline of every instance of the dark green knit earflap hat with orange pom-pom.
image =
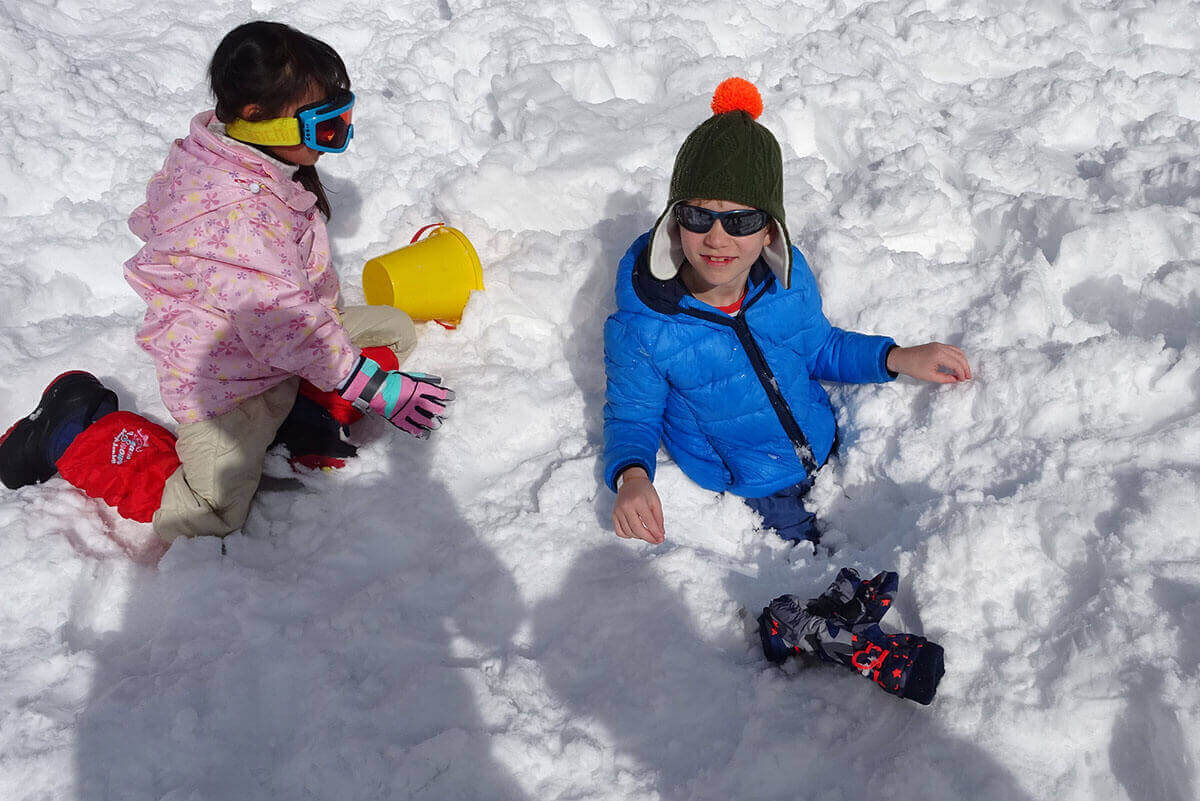
[[[786,289],[792,246],[784,212],[784,158],[770,131],[756,122],[762,97],[754,84],[728,78],[713,92],[713,116],[684,140],[671,174],[671,194],[650,240],[650,272],[666,281],[683,263],[676,204],[692,198],[728,200],[761,209],[774,219],[763,258]],[[658,251],[658,253],[655,253]]]

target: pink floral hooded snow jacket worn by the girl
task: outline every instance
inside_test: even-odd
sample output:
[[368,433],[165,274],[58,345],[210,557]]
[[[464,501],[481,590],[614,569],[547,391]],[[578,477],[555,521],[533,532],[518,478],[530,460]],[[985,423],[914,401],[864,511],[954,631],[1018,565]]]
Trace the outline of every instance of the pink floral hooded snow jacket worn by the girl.
[[205,112],[130,217],[145,242],[125,263],[148,307],[138,343],[179,422],[222,415],[290,375],[330,390],[358,359],[325,221],[290,175]]

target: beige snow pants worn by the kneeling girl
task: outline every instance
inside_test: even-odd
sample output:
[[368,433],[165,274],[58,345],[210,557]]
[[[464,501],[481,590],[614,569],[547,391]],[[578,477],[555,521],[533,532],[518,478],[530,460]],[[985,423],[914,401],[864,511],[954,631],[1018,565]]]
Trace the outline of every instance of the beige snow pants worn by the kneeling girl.
[[[403,365],[416,347],[416,330],[390,306],[352,306],[342,325],[359,348],[388,347]],[[241,528],[263,476],[263,459],[296,399],[292,377],[217,417],[180,423],[175,452],[181,462],[167,478],[154,530],[162,540],[215,535]]]

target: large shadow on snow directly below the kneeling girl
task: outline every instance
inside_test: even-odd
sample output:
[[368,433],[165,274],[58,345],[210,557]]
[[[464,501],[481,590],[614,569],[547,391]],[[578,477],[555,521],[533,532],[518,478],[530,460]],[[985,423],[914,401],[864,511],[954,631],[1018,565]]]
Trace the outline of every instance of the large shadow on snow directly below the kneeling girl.
[[430,478],[434,442],[368,430],[377,471],[263,492],[228,555],[178,542],[118,631],[65,627],[97,661],[76,797],[524,797],[468,675],[523,616],[511,576]]

